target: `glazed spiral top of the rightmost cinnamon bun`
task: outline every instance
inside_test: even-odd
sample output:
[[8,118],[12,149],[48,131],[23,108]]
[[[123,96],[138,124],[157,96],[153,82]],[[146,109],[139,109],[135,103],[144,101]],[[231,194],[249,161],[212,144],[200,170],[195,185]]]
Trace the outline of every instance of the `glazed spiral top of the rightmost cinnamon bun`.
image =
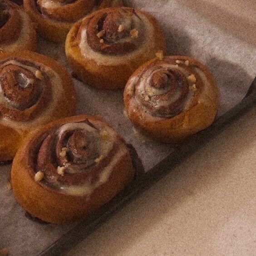
[[129,111],[134,108],[156,118],[172,118],[203,101],[207,90],[211,86],[196,62],[164,57],[132,76],[124,94],[131,98]]

